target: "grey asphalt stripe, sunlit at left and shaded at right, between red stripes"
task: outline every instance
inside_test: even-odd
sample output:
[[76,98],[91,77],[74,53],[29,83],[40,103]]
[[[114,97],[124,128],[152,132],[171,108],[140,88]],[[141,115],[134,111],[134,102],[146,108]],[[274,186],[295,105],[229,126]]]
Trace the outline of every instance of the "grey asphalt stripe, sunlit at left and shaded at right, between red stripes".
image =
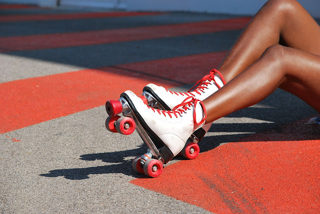
[[[0,53],[0,82],[131,62],[227,50],[240,30]],[[19,56],[19,57],[18,57]],[[23,66],[20,64],[23,63]],[[19,66],[17,66],[19,64]],[[65,67],[63,67],[65,64]],[[49,65],[49,66],[46,66]],[[46,69],[42,69],[42,68]],[[21,69],[26,69],[23,71]],[[29,72],[32,70],[32,72]]]

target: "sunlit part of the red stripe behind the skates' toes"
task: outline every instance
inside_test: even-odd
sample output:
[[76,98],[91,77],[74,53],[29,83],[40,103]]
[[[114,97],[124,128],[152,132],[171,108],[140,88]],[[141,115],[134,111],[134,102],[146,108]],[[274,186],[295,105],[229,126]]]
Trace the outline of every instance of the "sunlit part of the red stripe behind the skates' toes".
[[[0,84],[0,132],[65,116],[103,105],[107,99],[118,99],[126,89],[137,94],[149,81],[175,86],[161,79],[116,68],[87,69],[34,77]],[[143,80],[145,79],[145,80]]]

